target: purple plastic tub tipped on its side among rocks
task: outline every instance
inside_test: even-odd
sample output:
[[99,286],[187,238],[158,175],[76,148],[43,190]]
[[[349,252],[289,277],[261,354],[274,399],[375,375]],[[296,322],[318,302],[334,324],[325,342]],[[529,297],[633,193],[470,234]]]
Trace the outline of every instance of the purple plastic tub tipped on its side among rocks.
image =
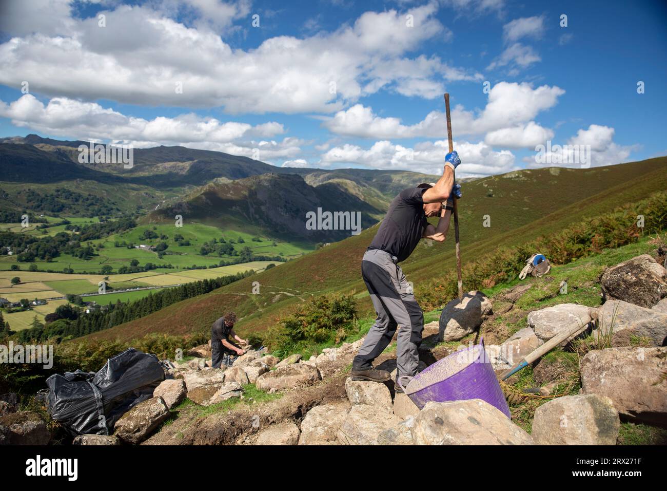
[[428,401],[482,399],[511,418],[510,407],[484,350],[484,339],[436,361],[418,373],[405,391],[420,410]]

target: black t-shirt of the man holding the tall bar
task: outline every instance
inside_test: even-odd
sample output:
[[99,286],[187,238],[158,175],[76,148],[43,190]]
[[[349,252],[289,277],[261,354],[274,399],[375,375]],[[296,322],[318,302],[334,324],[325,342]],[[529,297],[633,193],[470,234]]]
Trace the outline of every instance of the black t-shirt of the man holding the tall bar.
[[396,256],[399,262],[408,259],[428,225],[424,191],[426,188],[408,188],[394,198],[369,250],[382,249]]

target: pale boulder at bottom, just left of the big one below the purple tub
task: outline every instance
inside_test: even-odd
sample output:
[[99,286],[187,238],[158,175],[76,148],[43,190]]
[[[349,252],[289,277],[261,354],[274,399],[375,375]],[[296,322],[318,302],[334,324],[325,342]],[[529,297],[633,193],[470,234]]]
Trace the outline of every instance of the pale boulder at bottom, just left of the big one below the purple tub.
[[372,405],[353,405],[338,430],[336,441],[341,445],[379,445],[380,434],[401,421],[395,414],[378,411]]

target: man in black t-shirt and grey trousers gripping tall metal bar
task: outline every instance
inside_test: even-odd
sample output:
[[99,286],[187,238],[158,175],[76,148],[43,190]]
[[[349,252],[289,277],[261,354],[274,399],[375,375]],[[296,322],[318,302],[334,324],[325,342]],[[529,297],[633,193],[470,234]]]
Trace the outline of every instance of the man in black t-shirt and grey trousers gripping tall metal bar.
[[[353,380],[390,379],[388,371],[376,370],[372,363],[392,341],[398,326],[396,380],[405,387],[417,374],[424,315],[398,263],[408,259],[420,238],[444,242],[454,209],[452,195],[461,196],[461,186],[454,183],[454,169],[460,163],[458,154],[451,152],[438,182],[400,192],[364,254],[362,276],[378,317],[352,363]],[[440,216],[437,226],[428,223],[430,216]],[[395,386],[402,391],[399,383]]]

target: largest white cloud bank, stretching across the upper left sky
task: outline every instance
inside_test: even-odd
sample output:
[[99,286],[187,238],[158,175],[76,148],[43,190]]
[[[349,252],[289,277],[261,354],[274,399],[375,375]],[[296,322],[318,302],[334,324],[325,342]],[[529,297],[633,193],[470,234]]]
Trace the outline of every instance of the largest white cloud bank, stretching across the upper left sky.
[[[232,4],[192,3],[217,24],[244,11],[242,2],[231,10],[224,5]],[[39,25],[48,17],[44,9],[23,17],[33,28],[0,45],[0,84],[18,87],[26,80],[31,93],[49,97],[223,107],[232,114],[332,112],[383,88],[433,98],[442,93],[443,81],[481,76],[438,57],[406,57],[446,32],[437,9],[436,3],[410,9],[414,27],[406,26],[405,12],[366,12],[330,33],[271,37],[248,50],[233,49],[211,29],[187,27],[146,6],[104,11],[106,27],[99,27],[96,17],[67,18],[67,29],[50,31]],[[27,34],[35,30],[40,33]]]

